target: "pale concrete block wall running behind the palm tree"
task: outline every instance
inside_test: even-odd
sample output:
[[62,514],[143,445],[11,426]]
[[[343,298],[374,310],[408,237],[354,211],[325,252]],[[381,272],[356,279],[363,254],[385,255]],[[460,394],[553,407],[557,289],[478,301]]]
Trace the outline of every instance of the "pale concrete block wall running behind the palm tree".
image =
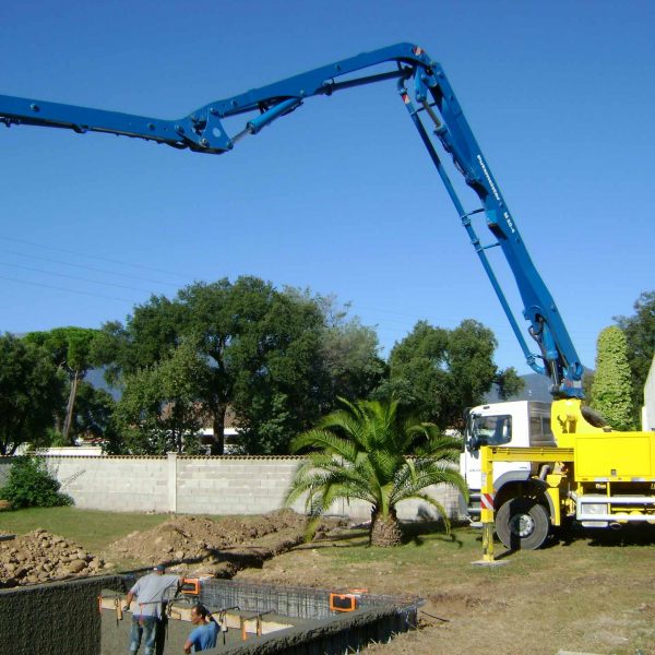
[[[284,507],[301,457],[257,456],[45,456],[49,471],[75,507],[110,512],[179,514],[262,514]],[[0,458],[0,476],[11,458]],[[1,479],[1,477],[0,477]],[[451,517],[460,512],[458,493],[448,487],[428,491]],[[294,510],[302,513],[305,503]],[[370,505],[336,502],[331,513],[368,521]],[[398,505],[403,520],[436,516],[422,501]]]

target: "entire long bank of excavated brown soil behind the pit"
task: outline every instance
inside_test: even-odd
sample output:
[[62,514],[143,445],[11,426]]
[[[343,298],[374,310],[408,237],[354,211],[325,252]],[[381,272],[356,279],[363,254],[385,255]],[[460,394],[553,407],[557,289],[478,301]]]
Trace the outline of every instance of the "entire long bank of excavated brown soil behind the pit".
[[[0,587],[44,583],[104,573],[120,562],[165,563],[186,575],[233,577],[303,540],[306,520],[291,510],[213,521],[174,516],[155,528],[134,532],[92,555],[63,537],[35,529],[2,543]],[[325,521],[318,534],[337,526]],[[108,563],[108,562],[118,562]]]

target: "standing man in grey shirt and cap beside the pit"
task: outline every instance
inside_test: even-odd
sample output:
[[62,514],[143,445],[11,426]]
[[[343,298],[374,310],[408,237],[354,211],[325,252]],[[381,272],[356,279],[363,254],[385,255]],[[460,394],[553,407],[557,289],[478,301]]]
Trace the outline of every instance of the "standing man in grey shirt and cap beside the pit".
[[140,577],[128,592],[126,609],[136,598],[136,608],[132,612],[130,631],[130,655],[135,655],[143,640],[144,655],[154,655],[157,640],[157,628],[162,621],[162,604],[168,590],[177,590],[182,577],[165,575],[164,564],[157,564],[152,573]]

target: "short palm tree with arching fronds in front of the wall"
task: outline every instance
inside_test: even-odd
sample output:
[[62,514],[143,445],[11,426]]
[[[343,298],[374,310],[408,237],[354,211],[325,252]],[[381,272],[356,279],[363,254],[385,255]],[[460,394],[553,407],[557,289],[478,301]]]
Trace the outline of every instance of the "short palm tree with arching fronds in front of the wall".
[[343,401],[344,409],[291,441],[291,451],[312,449],[300,465],[286,496],[290,504],[307,495],[311,535],[320,516],[337,500],[371,503],[369,541],[395,546],[402,533],[396,505],[420,499],[450,524],[444,508],[424,490],[445,484],[468,496],[466,483],[452,466],[460,453],[456,439],[432,424],[401,420],[397,401]]

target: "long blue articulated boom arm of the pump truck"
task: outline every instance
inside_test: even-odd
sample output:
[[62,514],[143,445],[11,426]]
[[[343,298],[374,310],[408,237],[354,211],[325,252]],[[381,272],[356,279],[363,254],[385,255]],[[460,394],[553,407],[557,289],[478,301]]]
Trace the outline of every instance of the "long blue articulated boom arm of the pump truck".
[[[381,69],[358,76],[365,69]],[[307,98],[365,84],[397,80],[401,97],[445,184],[491,285],[521,344],[527,364],[549,376],[556,396],[582,397],[583,367],[552,297],[535,269],[489,164],[468,127],[462,108],[440,64],[419,47],[397,44],[365,52],[293,78],[210,103],[178,120],[162,120],[0,95],[0,122],[70,129],[79,133],[106,132],[165,143],[193,152],[222,154],[248,134],[257,134],[274,120],[298,109]],[[245,118],[229,135],[224,121]],[[425,126],[431,123],[430,130]],[[438,155],[437,146],[451,155],[466,183],[476,192],[481,207],[466,212]],[[472,217],[485,213],[496,241],[483,246]],[[516,281],[528,332],[539,347],[533,354],[498,282],[486,250],[500,247]]]

